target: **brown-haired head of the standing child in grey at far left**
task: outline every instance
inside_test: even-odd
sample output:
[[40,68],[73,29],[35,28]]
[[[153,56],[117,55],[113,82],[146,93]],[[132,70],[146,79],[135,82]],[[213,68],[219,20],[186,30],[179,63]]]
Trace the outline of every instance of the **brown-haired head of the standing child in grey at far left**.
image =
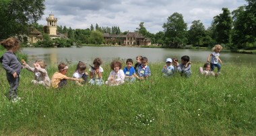
[[20,48],[20,42],[16,38],[7,38],[1,42],[1,45],[3,45],[3,47],[5,47],[7,50],[12,49],[13,52]]

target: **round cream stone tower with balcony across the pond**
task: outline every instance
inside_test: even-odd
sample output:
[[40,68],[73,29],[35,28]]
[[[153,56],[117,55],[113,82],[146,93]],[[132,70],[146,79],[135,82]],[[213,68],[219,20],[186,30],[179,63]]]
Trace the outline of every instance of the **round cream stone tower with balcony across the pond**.
[[51,36],[57,35],[57,18],[54,18],[54,15],[51,13],[48,18],[46,18],[48,26],[48,34]]

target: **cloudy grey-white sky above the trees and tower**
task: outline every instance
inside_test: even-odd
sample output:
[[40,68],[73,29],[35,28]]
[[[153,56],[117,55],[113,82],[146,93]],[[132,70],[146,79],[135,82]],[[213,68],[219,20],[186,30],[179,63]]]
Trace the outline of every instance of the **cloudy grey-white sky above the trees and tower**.
[[245,0],[45,0],[46,9],[38,24],[46,25],[46,17],[53,13],[58,26],[73,29],[119,26],[121,32],[134,32],[140,22],[153,33],[163,31],[164,23],[174,12],[181,13],[188,29],[191,22],[201,20],[208,28],[222,7],[230,12],[247,5]]

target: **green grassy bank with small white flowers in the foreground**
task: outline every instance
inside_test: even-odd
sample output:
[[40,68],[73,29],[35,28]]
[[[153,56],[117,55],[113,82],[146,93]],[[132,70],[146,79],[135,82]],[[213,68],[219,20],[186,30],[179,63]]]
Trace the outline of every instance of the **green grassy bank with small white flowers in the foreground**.
[[[149,81],[122,86],[33,86],[22,70],[18,96],[5,98],[9,84],[0,68],[1,135],[256,135],[256,69],[225,64],[218,78],[197,73],[166,79],[162,65],[150,64]],[[104,65],[104,79],[110,72]],[[70,67],[68,75],[75,67]],[[50,77],[57,67],[48,67]]]

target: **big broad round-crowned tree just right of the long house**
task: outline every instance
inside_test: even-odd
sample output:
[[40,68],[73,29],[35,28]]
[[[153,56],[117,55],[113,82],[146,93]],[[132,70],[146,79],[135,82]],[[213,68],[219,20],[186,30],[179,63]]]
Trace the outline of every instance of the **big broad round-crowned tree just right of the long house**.
[[164,28],[164,42],[166,46],[178,48],[187,43],[187,24],[183,20],[181,13],[173,13],[167,18],[168,22],[162,26]]

